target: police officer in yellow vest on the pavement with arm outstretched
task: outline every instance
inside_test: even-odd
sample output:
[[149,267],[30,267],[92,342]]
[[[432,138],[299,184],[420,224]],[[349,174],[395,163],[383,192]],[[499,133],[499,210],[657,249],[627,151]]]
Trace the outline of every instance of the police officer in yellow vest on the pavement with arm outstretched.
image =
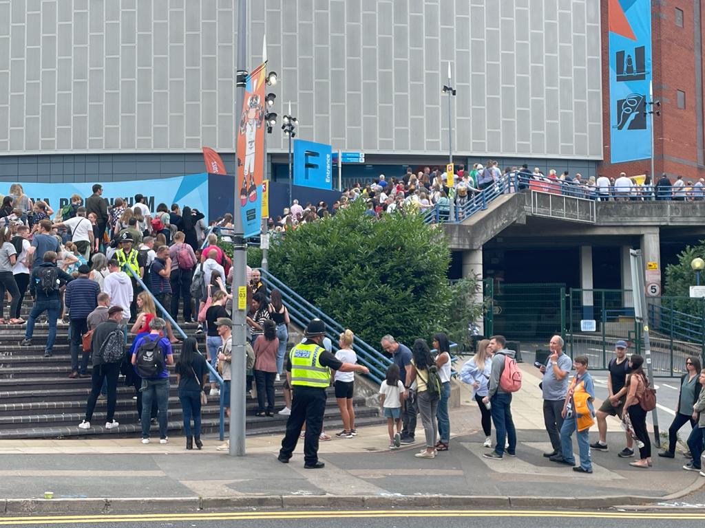
[[314,319],[306,327],[306,339],[289,352],[286,364],[287,379],[293,389],[291,415],[286,422],[286,436],[281,441],[278,460],[288,463],[306,422],[304,439],[304,467],[315,470],[325,464],[318,461],[318,439],[323,428],[323,414],[326,410],[326,389],[331,384],[331,369],[341,372],[362,372],[369,374],[364,365],[342,363],[336,356],[321,345],[326,334],[326,325]]

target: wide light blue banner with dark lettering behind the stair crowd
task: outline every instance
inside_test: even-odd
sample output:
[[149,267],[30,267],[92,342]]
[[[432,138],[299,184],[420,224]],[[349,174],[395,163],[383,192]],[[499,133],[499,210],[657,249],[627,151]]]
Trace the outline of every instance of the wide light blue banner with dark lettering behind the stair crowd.
[[[72,194],[80,194],[85,199],[93,194],[93,184],[87,183],[27,183],[21,182],[23,190],[32,200],[44,200],[54,211],[58,212],[71,201]],[[200,210],[208,218],[208,175],[192,174],[157,180],[130,180],[128,182],[100,182],[103,186],[103,198],[113,203],[116,198],[127,199],[133,206],[135,194],[145,196],[145,203],[152,213],[159,203],[166,203],[171,210],[172,203],[189,206]],[[11,184],[1,184],[0,193],[8,194]]]

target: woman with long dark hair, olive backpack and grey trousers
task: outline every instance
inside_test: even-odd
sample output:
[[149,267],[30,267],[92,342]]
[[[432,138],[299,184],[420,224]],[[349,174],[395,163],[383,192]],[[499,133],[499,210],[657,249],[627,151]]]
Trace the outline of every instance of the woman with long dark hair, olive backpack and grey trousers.
[[439,398],[431,396],[427,386],[429,367],[435,367],[435,363],[425,339],[414,341],[411,356],[411,376],[410,379],[406,380],[406,383],[410,384],[416,381],[416,401],[421,414],[421,422],[424,425],[424,434],[426,435],[426,447],[420,453],[416,453],[415,456],[417,458],[436,458],[436,437],[438,436],[436,410],[438,409]]

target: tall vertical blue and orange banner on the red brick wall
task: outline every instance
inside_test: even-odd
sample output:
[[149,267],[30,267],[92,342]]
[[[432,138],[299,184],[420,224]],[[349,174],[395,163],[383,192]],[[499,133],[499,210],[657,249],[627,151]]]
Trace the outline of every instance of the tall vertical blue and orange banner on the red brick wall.
[[609,0],[610,157],[651,157],[651,1]]

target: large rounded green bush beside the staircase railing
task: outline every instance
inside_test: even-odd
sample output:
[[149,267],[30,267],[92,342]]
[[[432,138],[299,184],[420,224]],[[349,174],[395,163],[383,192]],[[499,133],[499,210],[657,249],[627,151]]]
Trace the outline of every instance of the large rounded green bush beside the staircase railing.
[[[384,334],[407,345],[417,337],[430,344],[439,330],[458,336],[446,276],[450,249],[441,228],[424,224],[420,215],[375,220],[363,211],[357,201],[288,232],[272,246],[269,269],[373,346]],[[467,320],[462,325],[467,328]]]

